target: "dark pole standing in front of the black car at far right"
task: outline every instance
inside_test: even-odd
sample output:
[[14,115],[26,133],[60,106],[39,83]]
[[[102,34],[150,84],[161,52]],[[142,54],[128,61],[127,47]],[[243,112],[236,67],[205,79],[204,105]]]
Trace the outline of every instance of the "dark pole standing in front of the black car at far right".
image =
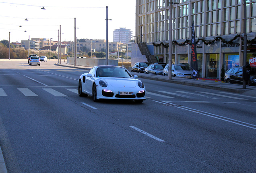
[[[246,65],[247,59],[247,12],[246,12],[246,0],[244,0],[244,56],[243,56],[243,66]],[[246,80],[243,78],[243,89],[246,89]]]

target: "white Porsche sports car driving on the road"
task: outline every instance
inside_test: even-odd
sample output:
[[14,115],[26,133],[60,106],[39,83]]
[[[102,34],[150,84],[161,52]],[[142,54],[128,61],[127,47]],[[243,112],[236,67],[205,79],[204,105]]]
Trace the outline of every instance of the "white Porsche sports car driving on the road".
[[146,100],[145,85],[120,66],[94,66],[79,78],[78,95],[98,99],[128,99],[137,103]]

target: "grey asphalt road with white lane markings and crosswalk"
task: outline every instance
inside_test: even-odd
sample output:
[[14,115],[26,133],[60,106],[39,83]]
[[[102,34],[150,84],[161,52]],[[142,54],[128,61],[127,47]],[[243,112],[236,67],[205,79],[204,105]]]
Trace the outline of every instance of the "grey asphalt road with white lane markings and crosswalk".
[[95,103],[54,63],[0,62],[8,173],[256,172],[255,97],[142,79],[142,104]]

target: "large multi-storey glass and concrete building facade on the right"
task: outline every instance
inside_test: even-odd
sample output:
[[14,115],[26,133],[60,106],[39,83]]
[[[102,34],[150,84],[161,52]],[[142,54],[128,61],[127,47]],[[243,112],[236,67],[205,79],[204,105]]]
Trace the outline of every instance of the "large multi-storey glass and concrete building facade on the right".
[[[168,63],[171,0],[136,0],[135,36],[145,42],[159,61]],[[246,61],[256,56],[256,1],[172,0],[172,60],[188,63],[191,58],[191,28],[194,21],[199,77],[220,78],[225,70],[243,65],[244,9],[247,10]],[[254,64],[251,64],[252,66]]]

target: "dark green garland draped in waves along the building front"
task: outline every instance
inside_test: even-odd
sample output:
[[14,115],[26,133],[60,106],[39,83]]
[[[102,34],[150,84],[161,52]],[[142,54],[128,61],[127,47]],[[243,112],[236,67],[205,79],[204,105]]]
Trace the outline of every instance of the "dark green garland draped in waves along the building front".
[[[205,40],[204,38],[198,38],[198,40],[196,41],[196,44],[201,40],[205,45],[209,45],[209,44],[213,44],[215,41],[219,41],[221,40],[221,42],[225,43],[225,44],[233,44],[233,41],[236,40],[237,38],[240,38],[241,40],[244,40],[244,38],[240,35],[236,35],[233,39],[229,40],[229,41],[226,41],[225,39],[223,39],[222,37],[218,36],[216,37],[214,40],[212,41],[207,41]],[[256,44],[256,37],[254,37],[252,40],[247,40],[248,44],[252,45],[252,44]],[[175,45],[178,45],[178,46],[185,46],[186,44],[189,44],[191,46],[191,43],[190,43],[190,40],[186,40],[184,41],[183,43],[178,43],[176,41],[173,41],[172,42],[173,44]],[[169,44],[164,44],[163,42],[159,43],[159,44],[155,44],[155,43],[152,43],[154,46],[158,47],[158,46],[161,46],[163,45],[164,48],[168,48],[169,47]]]

